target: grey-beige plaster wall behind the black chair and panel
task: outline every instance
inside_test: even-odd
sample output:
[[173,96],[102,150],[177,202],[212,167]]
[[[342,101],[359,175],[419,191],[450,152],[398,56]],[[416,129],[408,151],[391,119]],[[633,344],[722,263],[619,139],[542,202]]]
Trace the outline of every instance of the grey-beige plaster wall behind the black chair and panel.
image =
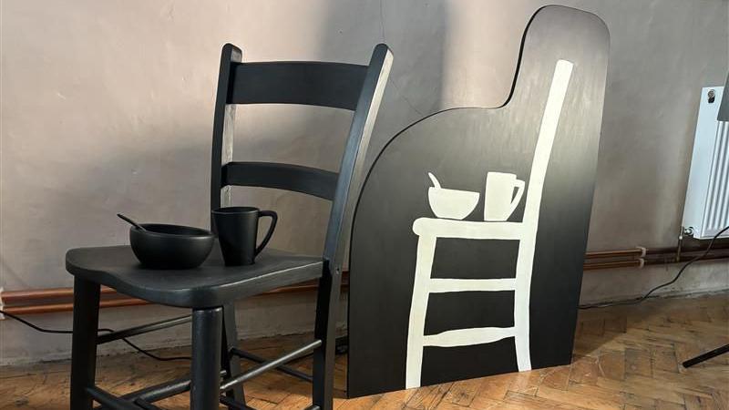
[[[596,13],[611,30],[590,250],[673,245],[698,91],[723,84],[727,71],[726,0],[3,0],[0,286],[70,286],[65,251],[127,241],[127,227],[114,216],[119,211],[207,225],[223,43],[241,46],[247,60],[359,64],[376,43],[391,46],[395,67],[373,158],[398,130],[436,110],[500,105],[524,27],[549,3]],[[235,158],[336,169],[333,154],[344,147],[348,121],[348,113],[335,109],[246,107],[239,110]],[[235,198],[279,211],[272,246],[320,251],[326,202],[262,190],[236,190]],[[587,272],[583,302],[640,294],[676,269]],[[666,291],[727,288],[729,265],[707,262]],[[313,295],[258,298],[240,307],[243,336],[303,332],[313,323]],[[108,309],[101,320],[122,327],[173,311]],[[68,313],[32,319],[70,326]],[[139,343],[188,343],[187,332]],[[69,348],[67,336],[0,323],[0,364],[67,357]]]

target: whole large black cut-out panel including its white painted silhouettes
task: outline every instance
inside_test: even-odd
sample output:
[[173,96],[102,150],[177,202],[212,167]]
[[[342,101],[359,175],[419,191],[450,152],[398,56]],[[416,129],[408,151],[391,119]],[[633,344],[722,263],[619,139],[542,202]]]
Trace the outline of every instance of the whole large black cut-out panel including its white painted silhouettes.
[[354,216],[350,396],[570,362],[608,48],[597,16],[541,8],[504,106],[385,147]]

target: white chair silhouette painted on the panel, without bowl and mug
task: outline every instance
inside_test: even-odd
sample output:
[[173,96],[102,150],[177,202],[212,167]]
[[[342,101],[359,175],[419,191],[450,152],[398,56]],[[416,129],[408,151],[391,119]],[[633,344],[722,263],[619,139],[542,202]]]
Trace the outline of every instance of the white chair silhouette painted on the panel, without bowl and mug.
[[[413,231],[418,236],[418,242],[413,300],[410,305],[410,321],[407,333],[406,388],[417,387],[421,383],[423,349],[426,346],[465,346],[493,343],[513,337],[519,371],[531,369],[529,355],[529,293],[537,228],[539,226],[539,206],[549,165],[549,156],[557,133],[557,125],[560,121],[571,74],[572,63],[566,60],[558,60],[549,86],[547,105],[539,127],[537,147],[534,150],[534,159],[529,173],[529,188],[524,217],[521,222],[481,222],[436,218],[418,218],[413,222]],[[506,279],[431,278],[438,238],[519,241],[516,275],[514,278]],[[456,329],[437,334],[424,334],[427,302],[430,293],[498,291],[514,291],[513,327]]]

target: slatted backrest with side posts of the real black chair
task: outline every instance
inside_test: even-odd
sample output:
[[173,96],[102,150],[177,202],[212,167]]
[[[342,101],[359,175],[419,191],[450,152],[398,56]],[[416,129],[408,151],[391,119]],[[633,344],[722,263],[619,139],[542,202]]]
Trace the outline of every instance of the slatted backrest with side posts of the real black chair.
[[[230,205],[231,186],[293,190],[332,201],[324,260],[341,269],[351,231],[364,155],[385,92],[393,56],[375,46],[368,66],[322,62],[243,63],[241,49],[222,47],[210,169],[210,209]],[[354,111],[338,173],[292,164],[233,162],[235,108],[243,104],[301,104]]]

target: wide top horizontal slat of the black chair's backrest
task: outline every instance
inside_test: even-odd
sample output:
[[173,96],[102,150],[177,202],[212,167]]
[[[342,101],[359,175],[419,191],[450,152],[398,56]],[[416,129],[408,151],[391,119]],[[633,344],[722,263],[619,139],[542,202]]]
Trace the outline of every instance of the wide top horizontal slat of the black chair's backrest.
[[343,63],[237,63],[228,104],[303,104],[353,110],[366,66]]

